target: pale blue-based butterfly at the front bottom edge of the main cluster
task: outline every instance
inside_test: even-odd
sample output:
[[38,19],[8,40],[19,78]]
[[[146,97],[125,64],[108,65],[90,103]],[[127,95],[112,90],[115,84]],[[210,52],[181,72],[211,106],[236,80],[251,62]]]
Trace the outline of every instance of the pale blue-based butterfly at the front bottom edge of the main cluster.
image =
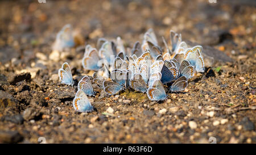
[[153,82],[151,87],[147,89],[147,97],[150,100],[164,100],[166,99],[166,91],[164,90],[162,82],[158,79]]

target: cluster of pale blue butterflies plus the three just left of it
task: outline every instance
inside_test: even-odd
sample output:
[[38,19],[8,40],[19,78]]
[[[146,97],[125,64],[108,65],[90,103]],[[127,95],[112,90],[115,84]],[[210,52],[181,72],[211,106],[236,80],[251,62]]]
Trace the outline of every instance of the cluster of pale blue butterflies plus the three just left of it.
[[[93,82],[108,95],[131,89],[146,93],[150,100],[165,100],[167,93],[164,87],[169,86],[168,92],[183,91],[189,78],[196,72],[204,72],[204,61],[202,47],[189,48],[181,41],[180,34],[170,31],[171,48],[162,39],[165,50],[159,46],[154,31],[150,29],[144,34],[142,44],[137,41],[132,49],[125,50],[120,37],[115,41],[100,38],[96,48],[86,45],[82,66],[96,71]],[[59,69],[59,77],[61,83],[73,86],[67,62]],[[73,107],[79,112],[92,111],[87,95],[93,96],[95,92],[89,77],[84,76],[77,88]]]

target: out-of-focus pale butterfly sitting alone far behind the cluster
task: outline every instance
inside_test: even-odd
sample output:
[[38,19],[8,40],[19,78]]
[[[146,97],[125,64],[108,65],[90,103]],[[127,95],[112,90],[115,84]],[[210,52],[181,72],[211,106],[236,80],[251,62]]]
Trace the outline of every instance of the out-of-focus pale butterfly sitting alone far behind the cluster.
[[64,48],[71,48],[74,45],[75,41],[72,36],[72,27],[70,24],[67,24],[57,33],[52,48],[53,50],[63,51]]

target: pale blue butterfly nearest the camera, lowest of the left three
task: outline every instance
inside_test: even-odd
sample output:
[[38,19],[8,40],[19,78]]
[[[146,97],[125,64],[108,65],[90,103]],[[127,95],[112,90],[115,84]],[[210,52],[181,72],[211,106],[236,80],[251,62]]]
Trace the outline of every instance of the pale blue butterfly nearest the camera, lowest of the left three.
[[92,104],[90,104],[90,101],[87,95],[82,90],[77,90],[76,96],[73,99],[73,107],[76,111],[79,111],[79,112],[93,111]]

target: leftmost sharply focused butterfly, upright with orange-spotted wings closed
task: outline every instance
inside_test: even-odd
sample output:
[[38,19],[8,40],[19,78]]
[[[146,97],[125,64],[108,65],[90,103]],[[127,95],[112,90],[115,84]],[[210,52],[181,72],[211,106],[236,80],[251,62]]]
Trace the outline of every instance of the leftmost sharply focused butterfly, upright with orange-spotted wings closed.
[[73,77],[71,70],[69,68],[68,62],[65,62],[62,67],[59,69],[59,78],[61,83],[66,85],[74,85]]

